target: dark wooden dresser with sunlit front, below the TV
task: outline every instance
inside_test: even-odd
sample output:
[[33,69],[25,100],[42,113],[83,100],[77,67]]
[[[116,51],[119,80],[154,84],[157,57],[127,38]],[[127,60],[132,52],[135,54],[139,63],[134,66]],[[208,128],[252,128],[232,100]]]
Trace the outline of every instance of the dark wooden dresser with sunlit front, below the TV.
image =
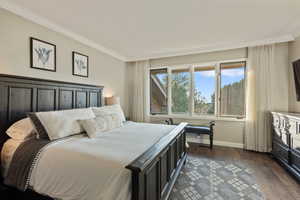
[[300,113],[272,112],[272,155],[300,181]]

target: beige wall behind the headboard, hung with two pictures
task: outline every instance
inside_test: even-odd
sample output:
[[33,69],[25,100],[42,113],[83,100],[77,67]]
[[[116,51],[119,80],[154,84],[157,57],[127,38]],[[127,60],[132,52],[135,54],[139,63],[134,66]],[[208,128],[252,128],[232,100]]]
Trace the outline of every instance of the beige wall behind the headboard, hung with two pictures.
[[[30,68],[29,37],[56,45],[56,72]],[[89,77],[72,75],[72,51],[89,56]],[[118,95],[127,111],[125,63],[62,34],[0,9],[0,73],[104,86],[104,95]]]

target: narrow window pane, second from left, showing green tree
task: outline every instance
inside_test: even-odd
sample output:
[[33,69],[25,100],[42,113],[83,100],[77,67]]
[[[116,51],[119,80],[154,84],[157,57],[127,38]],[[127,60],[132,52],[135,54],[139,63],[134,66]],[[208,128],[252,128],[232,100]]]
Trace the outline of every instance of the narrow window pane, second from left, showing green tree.
[[188,113],[190,96],[189,69],[172,70],[172,113]]

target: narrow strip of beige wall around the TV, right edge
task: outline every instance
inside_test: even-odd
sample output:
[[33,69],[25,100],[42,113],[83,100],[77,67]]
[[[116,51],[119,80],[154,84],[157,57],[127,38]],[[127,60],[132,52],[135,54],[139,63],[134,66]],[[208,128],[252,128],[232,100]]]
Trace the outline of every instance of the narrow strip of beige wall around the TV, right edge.
[[292,62],[300,59],[300,36],[289,42],[289,111],[300,112],[300,102],[296,99],[296,90]]

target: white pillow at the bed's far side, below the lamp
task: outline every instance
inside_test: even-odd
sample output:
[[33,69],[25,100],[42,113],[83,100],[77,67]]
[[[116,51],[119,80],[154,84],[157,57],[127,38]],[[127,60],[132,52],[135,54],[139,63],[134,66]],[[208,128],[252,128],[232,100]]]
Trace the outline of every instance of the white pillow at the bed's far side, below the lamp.
[[126,121],[124,112],[119,104],[103,107],[93,107],[92,109],[96,117],[108,114],[118,114],[122,122]]

